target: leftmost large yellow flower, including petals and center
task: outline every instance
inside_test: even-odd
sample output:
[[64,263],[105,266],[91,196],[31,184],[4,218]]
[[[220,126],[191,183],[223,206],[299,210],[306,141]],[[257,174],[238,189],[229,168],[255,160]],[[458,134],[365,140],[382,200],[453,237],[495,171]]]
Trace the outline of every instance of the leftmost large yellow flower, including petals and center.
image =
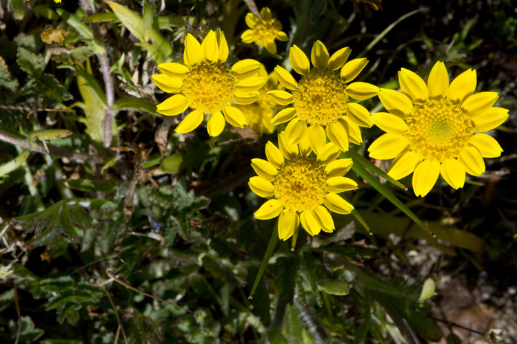
[[161,63],[158,69],[162,74],[153,75],[152,80],[164,92],[175,94],[156,106],[156,111],[165,116],[176,116],[192,109],[176,127],[178,133],[188,133],[203,122],[210,114],[207,131],[210,136],[218,136],[225,122],[242,128],[245,118],[236,104],[251,104],[259,98],[258,89],[266,78],[256,76],[261,63],[246,59],[235,63],[231,68],[225,62],[228,58],[228,45],[222,31],[210,30],[203,43],[192,34],[185,36],[183,61]]

